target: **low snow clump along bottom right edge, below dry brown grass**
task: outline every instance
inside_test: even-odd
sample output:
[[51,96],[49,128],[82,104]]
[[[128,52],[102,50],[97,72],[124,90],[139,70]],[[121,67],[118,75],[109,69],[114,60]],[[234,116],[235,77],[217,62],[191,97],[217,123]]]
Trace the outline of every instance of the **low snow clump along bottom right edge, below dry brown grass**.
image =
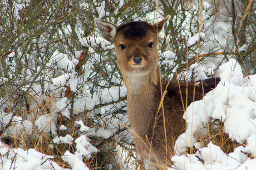
[[[200,148],[196,154],[173,156],[177,169],[206,170],[206,169],[255,169],[255,159],[247,158],[243,146],[235,148],[234,152],[225,154],[220,147],[209,143],[207,147]],[[176,169],[175,168],[175,169]],[[169,168],[171,170],[171,168]]]

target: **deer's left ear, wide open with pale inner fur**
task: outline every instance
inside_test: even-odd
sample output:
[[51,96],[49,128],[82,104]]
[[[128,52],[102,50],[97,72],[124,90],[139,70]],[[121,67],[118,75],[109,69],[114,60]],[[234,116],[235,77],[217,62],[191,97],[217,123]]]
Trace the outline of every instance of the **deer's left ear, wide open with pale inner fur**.
[[117,25],[98,18],[95,19],[95,24],[99,29],[102,37],[104,37],[109,42],[114,43],[114,39],[116,37],[116,30],[118,28]]

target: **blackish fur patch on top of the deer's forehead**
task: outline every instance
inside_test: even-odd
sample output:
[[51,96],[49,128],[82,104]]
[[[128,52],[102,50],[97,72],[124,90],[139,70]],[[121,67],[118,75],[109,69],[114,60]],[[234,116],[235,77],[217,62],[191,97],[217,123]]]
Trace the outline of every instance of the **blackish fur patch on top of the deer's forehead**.
[[151,25],[146,22],[130,22],[124,25],[121,25],[117,32],[122,31],[122,34],[125,38],[136,38],[144,37],[148,32]]

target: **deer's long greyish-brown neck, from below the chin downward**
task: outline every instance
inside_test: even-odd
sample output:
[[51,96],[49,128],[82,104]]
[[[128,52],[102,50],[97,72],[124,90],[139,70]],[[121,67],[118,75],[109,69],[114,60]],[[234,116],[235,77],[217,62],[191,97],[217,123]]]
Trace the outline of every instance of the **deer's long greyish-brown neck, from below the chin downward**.
[[158,107],[155,94],[159,85],[159,70],[154,74],[124,75],[127,86],[127,107],[132,127],[138,135],[146,135],[154,125]]

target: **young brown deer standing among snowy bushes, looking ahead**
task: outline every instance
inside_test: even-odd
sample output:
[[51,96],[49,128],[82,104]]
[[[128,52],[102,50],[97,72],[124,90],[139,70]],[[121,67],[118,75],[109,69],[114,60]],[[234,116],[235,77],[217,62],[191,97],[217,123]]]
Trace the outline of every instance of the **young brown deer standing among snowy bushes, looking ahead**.
[[[153,25],[130,22],[120,27],[95,19],[101,35],[115,44],[117,64],[127,87],[127,112],[135,132],[136,151],[158,167],[170,163],[175,138],[185,131],[184,106],[202,99],[219,82],[204,80],[202,88],[200,83],[195,86],[193,82],[187,85],[160,79],[157,34],[168,19],[169,16]],[[160,109],[164,91],[167,92]]]

